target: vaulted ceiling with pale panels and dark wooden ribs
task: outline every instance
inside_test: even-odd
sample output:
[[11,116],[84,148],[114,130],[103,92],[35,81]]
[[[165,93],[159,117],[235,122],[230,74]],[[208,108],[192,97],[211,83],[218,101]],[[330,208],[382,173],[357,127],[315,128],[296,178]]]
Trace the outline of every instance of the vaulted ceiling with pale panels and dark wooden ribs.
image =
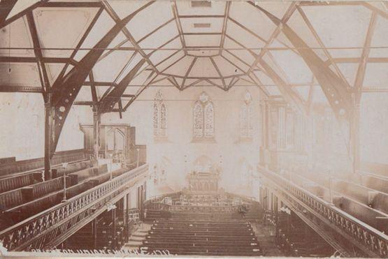
[[[256,86],[301,109],[335,90],[340,98],[329,103],[346,104],[347,94],[388,91],[387,8],[383,1],[1,0],[0,91],[45,91],[136,13],[74,104],[101,101],[141,61],[115,110],[127,110],[145,87],[204,84]],[[331,84],[317,77],[325,68]]]

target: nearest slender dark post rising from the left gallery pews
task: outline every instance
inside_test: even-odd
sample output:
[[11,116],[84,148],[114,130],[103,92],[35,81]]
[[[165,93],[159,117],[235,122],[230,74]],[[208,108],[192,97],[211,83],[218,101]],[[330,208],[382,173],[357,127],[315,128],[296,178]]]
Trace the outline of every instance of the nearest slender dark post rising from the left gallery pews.
[[45,102],[45,181],[51,179],[51,154],[52,154],[52,108],[50,101]]

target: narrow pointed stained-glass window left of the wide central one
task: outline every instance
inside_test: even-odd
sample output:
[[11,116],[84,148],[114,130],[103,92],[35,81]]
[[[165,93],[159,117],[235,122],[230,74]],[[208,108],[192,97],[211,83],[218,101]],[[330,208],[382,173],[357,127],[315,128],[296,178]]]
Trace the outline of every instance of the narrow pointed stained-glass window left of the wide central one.
[[164,138],[166,137],[167,130],[167,109],[161,91],[157,91],[155,95],[153,109],[152,124],[154,127],[154,136]]

